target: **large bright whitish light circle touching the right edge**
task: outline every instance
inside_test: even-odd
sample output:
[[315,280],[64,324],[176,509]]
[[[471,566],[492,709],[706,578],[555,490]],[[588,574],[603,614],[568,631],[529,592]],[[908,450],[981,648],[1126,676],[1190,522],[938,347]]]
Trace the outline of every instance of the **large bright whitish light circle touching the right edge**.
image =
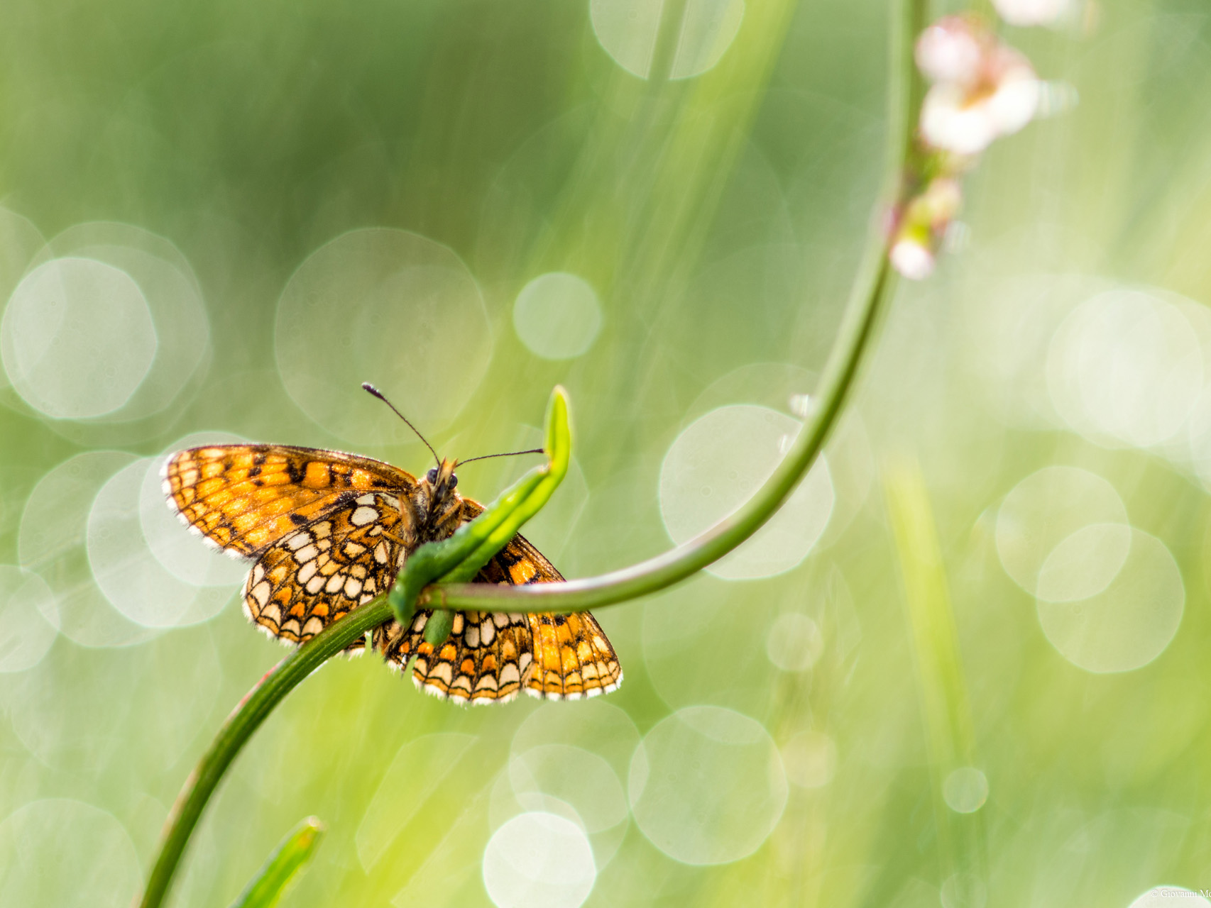
[[1199,338],[1182,310],[1132,289],[1107,291],[1077,306],[1051,340],[1046,370],[1061,419],[1112,446],[1172,438],[1186,427],[1204,383]]

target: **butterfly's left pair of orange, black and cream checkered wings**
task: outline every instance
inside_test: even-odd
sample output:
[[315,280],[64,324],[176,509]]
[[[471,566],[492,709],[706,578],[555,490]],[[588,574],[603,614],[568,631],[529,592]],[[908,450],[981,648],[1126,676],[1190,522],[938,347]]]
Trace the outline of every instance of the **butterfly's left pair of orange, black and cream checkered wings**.
[[288,643],[310,639],[386,590],[415,535],[400,504],[415,479],[340,452],[193,448],[168,459],[163,487],[193,531],[257,559],[243,586],[245,611]]

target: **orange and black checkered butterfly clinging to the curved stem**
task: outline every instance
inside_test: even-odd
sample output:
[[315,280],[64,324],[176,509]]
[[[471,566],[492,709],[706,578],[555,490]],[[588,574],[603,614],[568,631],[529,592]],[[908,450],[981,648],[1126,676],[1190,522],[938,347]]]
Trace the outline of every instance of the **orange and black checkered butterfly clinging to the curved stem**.
[[[418,546],[447,539],[483,512],[455,492],[455,466],[438,459],[418,481],[357,454],[218,444],[171,455],[162,477],[168,506],[191,533],[254,559],[241,593],[248,619],[283,643],[304,643],[389,590]],[[559,580],[520,535],[475,577],[510,585]],[[388,621],[372,643],[394,668],[414,660],[415,685],[446,700],[506,702],[522,689],[579,700],[622,682],[618,654],[587,611],[458,611],[449,637],[436,646],[424,639],[431,614],[417,611],[408,627]],[[361,651],[365,640],[349,649]]]

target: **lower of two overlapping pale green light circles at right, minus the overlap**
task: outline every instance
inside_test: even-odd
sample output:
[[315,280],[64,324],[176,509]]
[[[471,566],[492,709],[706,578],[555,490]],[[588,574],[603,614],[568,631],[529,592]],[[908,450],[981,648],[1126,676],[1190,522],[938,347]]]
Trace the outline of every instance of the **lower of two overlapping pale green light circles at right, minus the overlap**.
[[1089,672],[1129,672],[1164,653],[1186,605],[1182,573],[1169,548],[1131,531],[1123,569],[1102,592],[1078,602],[1038,600],[1043,633],[1060,654]]

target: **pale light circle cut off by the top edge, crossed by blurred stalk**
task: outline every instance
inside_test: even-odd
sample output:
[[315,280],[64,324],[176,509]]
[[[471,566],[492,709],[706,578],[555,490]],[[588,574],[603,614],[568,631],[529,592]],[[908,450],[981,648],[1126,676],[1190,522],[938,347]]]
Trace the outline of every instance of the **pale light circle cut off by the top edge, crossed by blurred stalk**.
[[647,0],[590,0],[589,17],[602,48],[641,79],[653,74],[661,18],[682,11],[670,79],[689,79],[714,67],[740,30],[744,0],[688,0],[684,5]]

